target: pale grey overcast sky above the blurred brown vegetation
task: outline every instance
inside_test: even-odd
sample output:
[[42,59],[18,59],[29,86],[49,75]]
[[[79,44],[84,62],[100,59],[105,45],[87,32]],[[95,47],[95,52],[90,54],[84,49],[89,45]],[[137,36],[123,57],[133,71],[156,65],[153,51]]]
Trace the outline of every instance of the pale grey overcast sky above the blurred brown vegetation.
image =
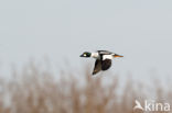
[[1,0],[0,60],[24,64],[44,55],[82,69],[85,50],[125,57],[109,71],[172,75],[171,0]]

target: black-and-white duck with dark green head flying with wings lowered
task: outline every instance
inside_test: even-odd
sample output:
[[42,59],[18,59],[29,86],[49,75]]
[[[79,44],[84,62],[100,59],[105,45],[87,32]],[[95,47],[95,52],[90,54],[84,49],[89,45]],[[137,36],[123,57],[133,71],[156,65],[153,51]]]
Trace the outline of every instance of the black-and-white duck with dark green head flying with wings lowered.
[[94,71],[93,75],[96,75],[97,72],[99,72],[100,70],[107,70],[110,68],[111,66],[111,59],[115,57],[123,57],[121,55],[111,53],[109,50],[97,50],[95,53],[89,53],[89,52],[85,52],[80,55],[80,57],[93,57],[96,58],[95,61],[95,67],[94,67]]

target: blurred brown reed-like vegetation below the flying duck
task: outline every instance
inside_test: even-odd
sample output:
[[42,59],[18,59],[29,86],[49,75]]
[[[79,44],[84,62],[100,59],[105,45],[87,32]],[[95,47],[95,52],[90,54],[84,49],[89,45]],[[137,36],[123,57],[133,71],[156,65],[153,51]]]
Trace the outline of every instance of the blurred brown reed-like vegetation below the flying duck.
[[172,86],[164,91],[152,84],[150,91],[144,83],[120,83],[118,76],[93,77],[88,70],[57,76],[31,64],[21,72],[14,70],[9,81],[0,79],[0,113],[133,113],[135,100],[142,103],[150,93],[159,102],[172,102]]

